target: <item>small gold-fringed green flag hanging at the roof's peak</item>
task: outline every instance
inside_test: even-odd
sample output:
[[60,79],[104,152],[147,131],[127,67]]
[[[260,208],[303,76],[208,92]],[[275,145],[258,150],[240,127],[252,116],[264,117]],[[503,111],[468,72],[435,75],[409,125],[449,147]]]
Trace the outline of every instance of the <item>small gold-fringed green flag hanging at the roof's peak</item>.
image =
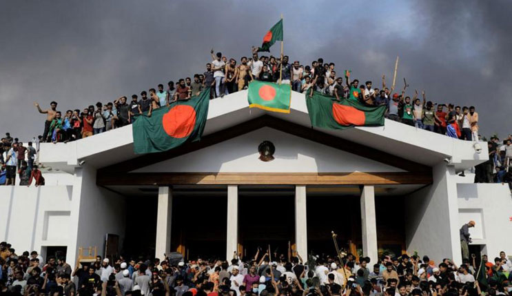
[[289,113],[291,86],[253,80],[249,83],[249,108],[260,108],[274,112]]

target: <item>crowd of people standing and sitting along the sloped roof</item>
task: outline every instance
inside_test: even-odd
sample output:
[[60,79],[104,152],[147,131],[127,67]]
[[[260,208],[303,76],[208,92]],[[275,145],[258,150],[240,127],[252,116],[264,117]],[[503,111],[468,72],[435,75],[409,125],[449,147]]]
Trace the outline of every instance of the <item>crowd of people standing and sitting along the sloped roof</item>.
[[[393,92],[395,86],[388,87],[382,75],[382,88],[373,86],[372,81],[360,83],[351,78],[350,70],[336,72],[335,63],[325,63],[322,58],[303,65],[300,61],[289,63],[289,57],[258,55],[252,50],[252,57],[227,58],[221,52],[210,52],[212,62],[207,63],[205,72],[196,73],[193,78],[169,81],[167,86],[158,84],[156,88],[141,91],[139,95],[122,96],[114,101],[97,102],[83,109],[57,110],[57,102],[50,108],[41,109],[46,115],[41,141],[68,142],[132,124],[137,117],[151,116],[153,110],[171,106],[176,101],[187,100],[210,88],[210,98],[222,98],[233,92],[247,89],[253,80],[288,83],[296,92],[309,93],[313,90],[330,95],[334,99],[360,101],[367,106],[386,106],[386,117],[449,137],[478,140],[478,112],[474,106],[454,106],[451,103],[427,101],[425,92],[422,99],[415,90],[412,98],[407,95],[409,86],[404,79],[400,92]],[[393,82],[394,83],[394,82]]]

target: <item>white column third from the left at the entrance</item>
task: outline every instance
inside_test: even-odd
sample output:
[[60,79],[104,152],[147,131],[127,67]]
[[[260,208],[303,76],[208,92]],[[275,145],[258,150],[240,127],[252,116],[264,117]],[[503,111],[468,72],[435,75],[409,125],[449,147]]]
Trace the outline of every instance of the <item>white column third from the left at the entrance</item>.
[[306,186],[295,186],[295,241],[298,254],[307,258]]

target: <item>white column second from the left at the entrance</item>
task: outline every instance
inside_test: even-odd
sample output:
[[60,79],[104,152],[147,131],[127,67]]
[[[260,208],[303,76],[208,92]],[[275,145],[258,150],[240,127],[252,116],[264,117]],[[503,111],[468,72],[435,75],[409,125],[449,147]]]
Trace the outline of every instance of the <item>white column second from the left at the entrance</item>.
[[238,245],[238,186],[227,186],[226,259],[230,262]]

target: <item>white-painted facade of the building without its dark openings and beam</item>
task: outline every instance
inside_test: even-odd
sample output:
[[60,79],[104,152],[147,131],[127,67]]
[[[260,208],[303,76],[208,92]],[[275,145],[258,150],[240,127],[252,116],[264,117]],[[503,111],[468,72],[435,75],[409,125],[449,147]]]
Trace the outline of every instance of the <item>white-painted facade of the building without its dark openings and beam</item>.
[[[231,128],[262,115],[270,115],[311,128],[303,95],[293,92],[289,115],[249,109],[245,91],[210,101],[204,135]],[[312,129],[311,132],[316,132]],[[391,156],[432,168],[433,183],[400,188],[405,200],[405,247],[439,261],[451,257],[461,262],[459,228],[468,219],[478,222],[471,229],[473,244],[491,256],[500,250],[512,253],[512,198],[501,184],[459,184],[456,175],[486,160],[487,146],[480,154],[473,143],[386,120],[383,127],[348,130],[321,130]],[[257,147],[263,140],[276,146],[274,161],[258,160]],[[96,185],[96,171],[138,157],[133,153],[132,127],[127,126],[68,144],[41,144],[39,160],[56,173],[47,174],[47,185],[39,188],[0,186],[0,240],[9,241],[17,252],[48,246],[65,246],[67,261],[73,265],[79,247],[103,249],[107,233],[125,236],[125,197],[120,191]],[[58,170],[58,172],[57,172]],[[403,172],[376,159],[339,150],[274,128],[262,127],[201,150],[180,155],[132,172],[212,172],[212,173],[351,173]],[[172,185],[172,184],[170,184]],[[170,251],[172,190],[155,187],[158,194],[156,227],[157,257]],[[228,184],[226,255],[237,250],[238,187]],[[295,187],[294,236],[299,253],[307,253],[307,188]],[[375,199],[382,190],[362,188],[362,249],[372,262],[377,257]],[[512,239],[509,239],[512,240]],[[303,255],[305,257],[305,255]]]

